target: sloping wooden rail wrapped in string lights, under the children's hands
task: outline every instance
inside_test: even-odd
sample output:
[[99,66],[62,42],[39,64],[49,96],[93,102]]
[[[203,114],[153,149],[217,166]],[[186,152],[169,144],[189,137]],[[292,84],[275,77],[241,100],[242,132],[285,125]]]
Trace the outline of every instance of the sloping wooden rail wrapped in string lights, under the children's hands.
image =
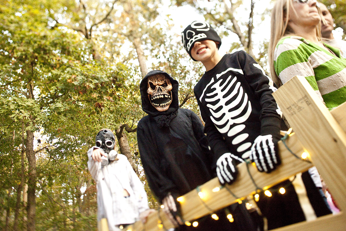
[[[301,154],[304,149],[301,143],[298,141],[297,136],[292,134],[287,140],[286,144],[290,147],[291,151],[297,154]],[[284,146],[282,141],[279,142],[279,151],[282,159],[282,164],[271,174],[259,172],[257,169],[248,164],[249,172],[247,170],[246,163],[238,165],[239,176],[232,185],[226,185],[221,187],[218,178],[211,179],[207,183],[201,185],[199,190],[203,193],[203,202],[198,196],[197,189],[183,196],[184,201],[181,203],[182,216],[185,221],[193,221],[202,216],[211,214],[213,211],[220,210],[230,204],[239,201],[239,198],[247,197],[250,194],[255,193],[256,187],[252,183],[254,179],[256,185],[259,188],[268,188],[271,185],[275,185],[285,179],[288,179],[292,175],[298,172],[306,171],[312,167],[311,163],[297,159],[294,157]],[[250,173],[250,174],[249,174]],[[218,192],[213,192],[214,188],[219,187]],[[236,196],[230,194],[226,187]],[[209,210],[209,208],[211,210]],[[160,215],[159,215],[160,214]],[[173,228],[172,223],[167,219],[162,210],[151,214],[148,217],[146,224],[142,222],[136,222],[130,225],[125,230],[132,231],[156,231],[160,230],[160,225],[164,226],[164,230]],[[161,229],[162,230],[162,229]]]

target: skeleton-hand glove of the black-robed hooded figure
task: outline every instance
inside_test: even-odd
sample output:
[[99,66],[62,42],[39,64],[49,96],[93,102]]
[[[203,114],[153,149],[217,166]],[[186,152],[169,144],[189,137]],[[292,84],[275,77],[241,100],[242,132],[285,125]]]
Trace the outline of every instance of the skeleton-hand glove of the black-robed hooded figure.
[[168,218],[174,226],[177,227],[179,225],[184,224],[184,222],[181,219],[180,203],[177,202],[176,198],[173,197],[171,193],[169,193],[165,198],[163,198],[162,204],[164,205],[163,211],[168,216]]

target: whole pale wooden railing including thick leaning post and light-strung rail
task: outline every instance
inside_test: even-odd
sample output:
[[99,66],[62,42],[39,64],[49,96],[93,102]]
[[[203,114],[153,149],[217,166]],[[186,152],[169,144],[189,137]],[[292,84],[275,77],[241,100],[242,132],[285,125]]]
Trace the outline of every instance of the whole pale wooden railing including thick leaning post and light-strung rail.
[[[291,79],[274,92],[273,96],[296,133],[290,135],[286,144],[298,155],[304,151],[309,152],[313,164],[338,202],[340,210],[346,211],[346,104],[329,112],[309,83],[301,77]],[[238,165],[239,176],[232,185],[221,187],[218,179],[214,178],[199,187],[198,190],[203,193],[203,198],[199,197],[197,189],[185,194],[181,202],[183,219],[193,221],[254,194],[256,187],[250,175],[259,188],[266,189],[312,167],[311,163],[294,157],[282,141],[279,142],[279,150],[282,164],[271,174],[258,172],[251,164],[246,166],[246,163],[242,163]],[[220,190],[213,192],[217,187]],[[159,210],[149,215],[146,224],[139,221],[124,230],[161,231],[169,228],[173,228],[172,223],[163,211]],[[344,231],[345,229],[346,214],[340,212],[337,215],[327,215],[313,221],[288,225],[275,231]]]

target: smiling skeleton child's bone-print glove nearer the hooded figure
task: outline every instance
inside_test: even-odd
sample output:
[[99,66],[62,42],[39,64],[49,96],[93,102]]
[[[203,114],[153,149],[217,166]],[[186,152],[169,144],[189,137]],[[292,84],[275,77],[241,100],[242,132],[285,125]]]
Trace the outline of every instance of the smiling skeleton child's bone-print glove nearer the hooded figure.
[[226,182],[232,184],[237,178],[238,169],[236,159],[239,158],[227,152],[222,154],[216,161],[216,174],[221,185],[225,185]]

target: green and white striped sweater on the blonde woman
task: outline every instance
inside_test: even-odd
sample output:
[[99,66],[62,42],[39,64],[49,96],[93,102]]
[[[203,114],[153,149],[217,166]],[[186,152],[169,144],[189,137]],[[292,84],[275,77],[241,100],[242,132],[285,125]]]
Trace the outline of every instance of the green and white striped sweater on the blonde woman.
[[346,59],[325,44],[332,54],[298,36],[282,38],[274,51],[274,68],[282,83],[295,75],[305,77],[331,109],[346,101]]

